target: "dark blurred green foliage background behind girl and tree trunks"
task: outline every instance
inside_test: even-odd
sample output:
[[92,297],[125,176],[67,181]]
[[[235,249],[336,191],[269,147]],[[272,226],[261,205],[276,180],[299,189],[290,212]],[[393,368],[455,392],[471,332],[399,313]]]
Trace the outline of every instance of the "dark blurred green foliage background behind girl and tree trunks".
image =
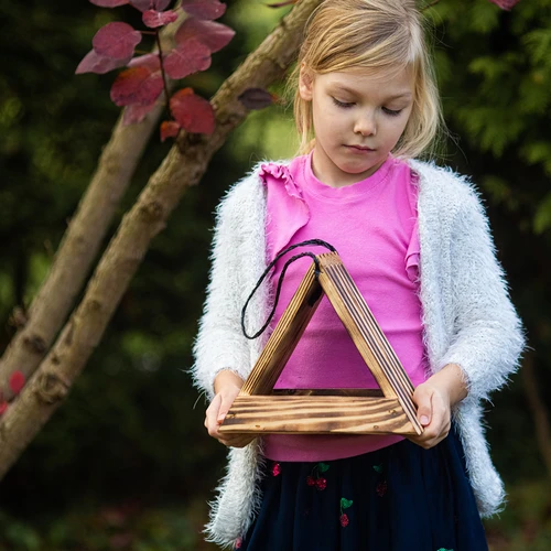
[[[40,288],[119,115],[109,99],[116,72],[74,71],[102,24],[138,20],[127,7],[85,0],[0,6],[1,352],[14,333],[10,314]],[[212,96],[287,11],[229,2],[220,22],[237,34],[188,85]],[[521,0],[507,12],[488,0],[441,0],[425,14],[451,131],[437,162],[480,190],[531,346],[525,369],[488,404],[491,454],[509,494],[505,512],[486,522],[488,539],[493,550],[548,551],[551,1]],[[170,147],[154,134],[118,220]],[[201,530],[225,450],[206,434],[204,400],[185,372],[213,210],[252,164],[295,147],[291,110],[252,112],[188,190],[66,403],[0,483],[1,551],[214,549]]]

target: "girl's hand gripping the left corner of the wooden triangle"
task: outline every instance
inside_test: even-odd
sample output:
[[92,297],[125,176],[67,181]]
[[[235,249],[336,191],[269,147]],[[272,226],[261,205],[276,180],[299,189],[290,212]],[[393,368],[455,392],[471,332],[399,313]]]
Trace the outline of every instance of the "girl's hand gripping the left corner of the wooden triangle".
[[222,434],[218,432],[236,396],[241,390],[242,383],[242,379],[234,372],[220,371],[215,381],[217,393],[206,410],[205,426],[208,434],[226,446],[245,447],[257,437],[256,434]]

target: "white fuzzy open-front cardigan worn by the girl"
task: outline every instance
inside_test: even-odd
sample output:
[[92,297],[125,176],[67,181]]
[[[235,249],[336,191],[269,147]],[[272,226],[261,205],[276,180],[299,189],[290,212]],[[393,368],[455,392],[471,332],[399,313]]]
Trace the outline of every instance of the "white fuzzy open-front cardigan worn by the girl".
[[[454,419],[478,509],[487,517],[500,510],[505,491],[489,457],[480,402],[518,366],[523,331],[477,192],[451,170],[418,161],[410,165],[419,174],[423,339],[432,372],[446,364],[464,371],[468,396],[455,408]],[[220,370],[247,377],[267,338],[248,341],[240,327],[242,305],[266,269],[266,194],[258,170],[228,192],[217,212],[210,282],[192,368],[194,383],[209,399]],[[264,284],[248,309],[251,331],[262,326],[270,304]],[[261,501],[259,444],[229,449],[228,457],[206,527],[207,539],[224,547],[246,533]]]

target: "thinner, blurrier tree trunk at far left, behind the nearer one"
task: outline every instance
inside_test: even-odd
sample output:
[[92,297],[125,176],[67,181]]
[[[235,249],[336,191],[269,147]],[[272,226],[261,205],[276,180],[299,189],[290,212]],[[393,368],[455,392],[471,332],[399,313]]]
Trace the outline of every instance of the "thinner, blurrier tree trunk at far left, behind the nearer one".
[[[182,18],[163,30],[163,42],[173,40],[179,23]],[[163,109],[159,105],[142,122],[127,127],[119,117],[25,323],[0,359],[0,390],[6,400],[13,396],[11,374],[20,370],[28,379],[67,318]]]

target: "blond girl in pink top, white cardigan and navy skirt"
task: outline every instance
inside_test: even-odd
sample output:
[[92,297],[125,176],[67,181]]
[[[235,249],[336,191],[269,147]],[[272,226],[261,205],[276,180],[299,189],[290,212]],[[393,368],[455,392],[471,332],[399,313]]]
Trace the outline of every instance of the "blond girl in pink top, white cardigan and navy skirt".
[[[193,368],[208,433],[229,446],[208,538],[251,551],[485,550],[480,517],[505,494],[480,402],[523,335],[476,191],[413,160],[441,117],[414,2],[322,2],[294,77],[301,155],[257,166],[218,210]],[[244,336],[241,309],[269,262],[306,239],[332,244],[365,296],[415,386],[421,436],[218,432],[268,336]],[[249,334],[289,256],[249,304]],[[287,271],[272,328],[310,262]],[[277,387],[377,388],[326,298]]]

